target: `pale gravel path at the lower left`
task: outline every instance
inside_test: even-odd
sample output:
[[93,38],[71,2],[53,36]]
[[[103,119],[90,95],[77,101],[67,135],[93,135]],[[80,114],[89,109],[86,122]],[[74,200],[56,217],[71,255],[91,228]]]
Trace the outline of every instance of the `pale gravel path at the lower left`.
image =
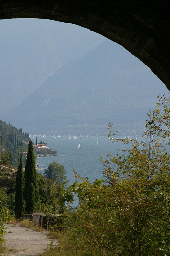
[[[13,226],[13,227],[12,227]],[[7,247],[6,255],[10,256],[38,256],[51,244],[52,239],[48,239],[47,235],[42,232],[33,231],[30,228],[21,227],[19,224],[4,224],[6,235],[4,236]],[[57,244],[55,240],[52,243]]]

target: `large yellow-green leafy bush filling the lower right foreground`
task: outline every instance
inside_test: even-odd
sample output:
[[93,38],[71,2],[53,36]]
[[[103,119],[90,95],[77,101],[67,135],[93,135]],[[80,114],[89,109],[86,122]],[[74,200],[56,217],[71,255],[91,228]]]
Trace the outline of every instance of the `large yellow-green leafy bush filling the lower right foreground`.
[[130,148],[101,157],[103,180],[91,184],[76,173],[81,180],[71,189],[79,207],[70,214],[67,239],[77,243],[81,255],[170,255],[170,101],[158,99],[148,113],[145,141],[108,133],[113,143]]

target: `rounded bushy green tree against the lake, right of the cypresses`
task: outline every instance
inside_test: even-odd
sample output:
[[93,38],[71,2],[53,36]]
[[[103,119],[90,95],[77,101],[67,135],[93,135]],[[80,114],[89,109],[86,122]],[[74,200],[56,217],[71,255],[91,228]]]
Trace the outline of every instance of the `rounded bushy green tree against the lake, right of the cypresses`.
[[48,169],[45,169],[44,175],[47,179],[53,179],[57,184],[63,182],[66,179],[66,171],[64,170],[64,165],[56,162],[52,162],[48,165]]

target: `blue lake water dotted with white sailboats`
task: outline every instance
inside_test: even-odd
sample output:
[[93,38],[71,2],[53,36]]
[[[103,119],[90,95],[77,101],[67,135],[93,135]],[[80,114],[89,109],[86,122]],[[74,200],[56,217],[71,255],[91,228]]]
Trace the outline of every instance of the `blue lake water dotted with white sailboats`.
[[[69,136],[66,136],[66,138],[60,136],[60,139],[57,135],[55,135],[55,137],[37,136],[38,143],[43,139],[49,148],[57,150],[58,156],[43,156],[37,158],[36,164],[46,169],[51,162],[63,164],[67,172],[66,175],[69,180],[69,185],[75,181],[73,169],[76,169],[81,177],[88,177],[90,182],[93,182],[95,179],[101,179],[103,177],[102,171],[104,166],[99,160],[100,154],[106,159],[107,151],[114,154],[117,152],[117,148],[125,148],[124,143],[121,143],[122,145],[116,142],[112,143],[107,136],[82,136],[82,139],[80,139],[80,136],[77,136],[76,139],[74,139],[73,136],[71,136],[71,139],[69,139]],[[35,143],[35,136],[31,136],[30,138]],[[78,148],[79,143],[81,148]],[[41,173],[44,172],[42,169],[39,171]]]

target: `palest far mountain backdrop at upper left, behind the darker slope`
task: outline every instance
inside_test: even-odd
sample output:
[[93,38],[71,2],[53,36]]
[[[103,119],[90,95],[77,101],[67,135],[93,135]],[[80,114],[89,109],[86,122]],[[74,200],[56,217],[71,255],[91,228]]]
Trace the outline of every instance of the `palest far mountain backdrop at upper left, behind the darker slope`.
[[52,20],[1,20],[0,31],[0,114],[19,105],[64,63],[104,40],[88,29]]

